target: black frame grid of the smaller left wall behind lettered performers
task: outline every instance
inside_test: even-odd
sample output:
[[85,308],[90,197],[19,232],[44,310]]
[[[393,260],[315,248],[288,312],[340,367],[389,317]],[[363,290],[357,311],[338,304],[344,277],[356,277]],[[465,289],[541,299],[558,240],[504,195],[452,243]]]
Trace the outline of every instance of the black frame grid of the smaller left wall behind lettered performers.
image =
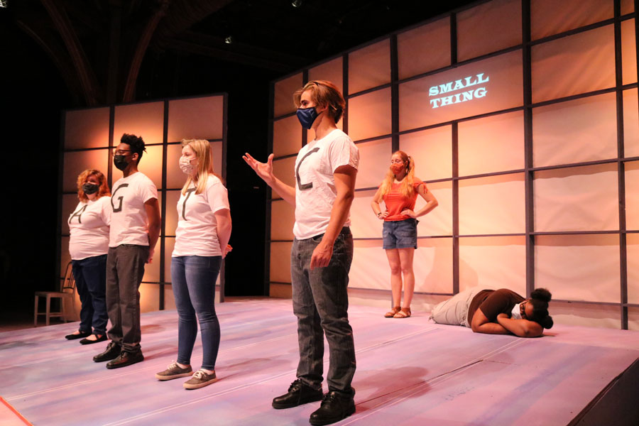
[[[164,310],[165,308],[165,285],[170,285],[170,277],[167,279],[165,276],[165,239],[166,238],[175,238],[175,232],[170,235],[166,233],[166,194],[170,191],[182,190],[182,187],[179,188],[168,188],[166,187],[167,182],[167,155],[168,155],[168,147],[170,145],[178,145],[180,141],[168,141],[168,116],[169,116],[169,105],[171,101],[180,100],[180,99],[200,99],[205,97],[223,97],[223,111],[222,111],[222,138],[217,139],[208,139],[209,142],[222,142],[222,177],[226,180],[226,135],[227,135],[227,110],[228,110],[228,94],[226,93],[214,93],[214,94],[206,94],[201,96],[193,96],[193,97],[172,97],[165,99],[155,99],[141,102],[130,102],[127,104],[111,104],[108,106],[96,107],[96,108],[109,108],[109,145],[99,148],[72,148],[65,149],[65,121],[66,114],[69,111],[78,111],[84,109],[67,109],[62,111],[62,117],[60,119],[60,157],[59,157],[59,170],[61,173],[58,175],[58,232],[57,232],[57,251],[56,257],[58,261],[56,262],[56,276],[59,279],[60,277],[60,263],[62,261],[62,250],[67,249],[66,247],[62,247],[62,237],[69,236],[69,234],[62,234],[62,196],[63,195],[75,195],[76,192],[65,192],[62,190],[62,183],[64,176],[64,158],[65,153],[71,152],[85,152],[85,151],[95,151],[95,150],[107,150],[109,155],[109,160],[107,163],[107,182],[109,183],[109,187],[113,185],[113,148],[116,146],[114,144],[114,128],[115,128],[115,109],[116,107],[121,107],[124,105],[133,105],[133,104],[148,104],[153,102],[163,102],[163,133],[162,133],[162,142],[161,143],[148,143],[146,146],[162,146],[162,187],[158,189],[158,195],[161,194],[161,205],[160,205],[160,238],[158,241],[158,245],[160,246],[159,251],[159,280],[158,281],[142,281],[143,284],[155,284],[160,286],[160,294],[158,300],[158,309]],[[96,108],[87,108],[87,109],[96,109]],[[156,245],[157,247],[157,245]],[[155,256],[157,259],[158,256]],[[220,292],[219,292],[219,301],[224,302],[224,261],[222,261],[222,268],[219,273],[220,279]]]

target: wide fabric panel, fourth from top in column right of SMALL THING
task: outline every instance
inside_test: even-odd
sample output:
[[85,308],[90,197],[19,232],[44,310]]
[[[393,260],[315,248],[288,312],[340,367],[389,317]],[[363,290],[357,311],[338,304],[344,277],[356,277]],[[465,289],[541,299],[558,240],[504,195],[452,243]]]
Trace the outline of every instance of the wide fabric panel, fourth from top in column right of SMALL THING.
[[619,229],[617,166],[535,173],[535,231]]

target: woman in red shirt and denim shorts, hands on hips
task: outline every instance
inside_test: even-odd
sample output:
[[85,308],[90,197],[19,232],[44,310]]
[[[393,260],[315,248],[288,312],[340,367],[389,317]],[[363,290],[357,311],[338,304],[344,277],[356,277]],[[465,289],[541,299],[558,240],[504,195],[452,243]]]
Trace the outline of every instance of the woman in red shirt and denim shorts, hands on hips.
[[[426,200],[426,205],[414,212],[417,195]],[[383,200],[386,210],[381,211],[379,203]],[[403,152],[396,151],[391,156],[388,168],[379,189],[371,202],[373,212],[384,221],[383,249],[386,250],[388,264],[391,266],[391,293],[393,305],[384,317],[410,317],[410,302],[415,290],[413,273],[413,255],[417,249],[417,217],[427,214],[437,207],[435,195],[427,189],[425,182],[415,177],[415,161]],[[402,280],[403,275],[403,280]],[[404,288],[404,302],[400,297]]]

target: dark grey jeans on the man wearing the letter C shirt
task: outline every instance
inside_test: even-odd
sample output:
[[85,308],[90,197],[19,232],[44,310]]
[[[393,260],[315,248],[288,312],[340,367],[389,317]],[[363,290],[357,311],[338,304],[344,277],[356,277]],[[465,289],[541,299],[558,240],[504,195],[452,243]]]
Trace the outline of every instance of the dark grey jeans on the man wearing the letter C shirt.
[[353,236],[344,227],[333,246],[329,266],[310,270],[310,260],[323,235],[293,241],[290,276],[293,312],[297,317],[300,364],[297,378],[315,389],[322,388],[324,334],[329,344],[329,391],[353,395],[355,345],[349,324],[349,269],[353,261]]

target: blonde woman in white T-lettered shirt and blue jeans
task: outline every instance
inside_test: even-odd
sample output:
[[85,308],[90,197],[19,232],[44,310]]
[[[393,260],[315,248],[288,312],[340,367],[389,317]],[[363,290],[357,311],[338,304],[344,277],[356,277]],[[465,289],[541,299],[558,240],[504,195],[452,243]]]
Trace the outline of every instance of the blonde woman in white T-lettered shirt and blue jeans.
[[[171,284],[178,308],[178,361],[155,374],[158,380],[191,376],[184,383],[197,389],[217,381],[219,321],[215,314],[215,282],[222,259],[231,250],[231,212],[226,187],[213,173],[209,141],[183,140],[180,169],[187,175],[178,200],[178,229],[171,258]],[[202,368],[192,373],[191,353],[202,334]]]

